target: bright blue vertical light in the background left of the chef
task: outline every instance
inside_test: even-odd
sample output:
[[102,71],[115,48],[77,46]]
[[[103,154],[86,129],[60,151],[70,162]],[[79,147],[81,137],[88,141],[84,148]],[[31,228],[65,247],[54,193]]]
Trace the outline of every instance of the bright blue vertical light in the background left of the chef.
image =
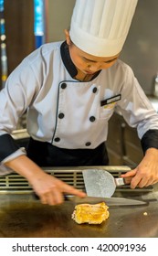
[[45,42],[45,16],[44,0],[34,0],[34,34],[36,39],[36,48]]

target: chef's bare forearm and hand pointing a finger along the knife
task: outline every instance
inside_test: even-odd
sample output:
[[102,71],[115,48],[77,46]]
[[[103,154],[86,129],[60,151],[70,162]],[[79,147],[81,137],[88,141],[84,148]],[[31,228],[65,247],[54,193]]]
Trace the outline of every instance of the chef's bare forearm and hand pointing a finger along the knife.
[[57,205],[64,200],[63,193],[86,197],[86,194],[45,173],[26,155],[20,155],[5,163],[21,176],[26,177],[43,204]]

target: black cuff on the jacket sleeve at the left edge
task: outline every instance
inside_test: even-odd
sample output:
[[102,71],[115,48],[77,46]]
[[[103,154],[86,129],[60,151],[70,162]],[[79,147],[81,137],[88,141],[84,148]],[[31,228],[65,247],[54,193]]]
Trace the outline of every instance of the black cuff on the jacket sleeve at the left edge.
[[8,133],[0,136],[0,162],[5,159],[8,155],[11,155],[19,149],[15,140]]

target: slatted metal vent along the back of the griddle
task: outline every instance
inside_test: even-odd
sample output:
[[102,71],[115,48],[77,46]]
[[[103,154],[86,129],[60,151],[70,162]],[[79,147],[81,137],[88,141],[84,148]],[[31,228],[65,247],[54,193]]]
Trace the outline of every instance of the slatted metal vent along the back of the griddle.
[[[94,166],[89,166],[89,168],[94,168]],[[126,173],[131,170],[128,166],[95,166],[95,168],[104,169],[111,173],[114,177],[120,177],[121,174]],[[76,167],[76,168],[44,168],[47,174],[51,176],[56,176],[62,181],[68,183],[68,185],[79,188],[80,190],[85,190],[82,170],[86,167]],[[117,191],[133,191],[133,192],[142,192],[142,191],[152,191],[153,187],[144,187],[136,188],[132,190],[129,185],[117,187]],[[31,193],[32,187],[27,182],[26,178],[19,176],[16,173],[10,174],[8,176],[0,176],[0,194],[25,194]]]

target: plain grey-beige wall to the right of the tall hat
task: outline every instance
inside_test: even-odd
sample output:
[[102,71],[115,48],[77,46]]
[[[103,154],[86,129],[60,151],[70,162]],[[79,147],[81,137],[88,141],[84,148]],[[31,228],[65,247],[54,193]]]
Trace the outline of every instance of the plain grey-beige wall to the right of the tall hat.
[[147,95],[153,94],[153,78],[158,72],[157,10],[157,0],[138,1],[132,27],[121,54],[121,59],[132,67]]

